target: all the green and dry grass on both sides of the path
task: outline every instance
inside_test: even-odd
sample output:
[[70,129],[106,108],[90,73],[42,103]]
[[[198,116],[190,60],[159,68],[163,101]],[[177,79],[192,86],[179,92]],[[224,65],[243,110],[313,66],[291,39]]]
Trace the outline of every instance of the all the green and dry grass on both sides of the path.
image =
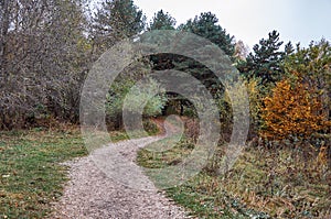
[[[153,125],[150,133],[158,133]],[[111,132],[113,141],[126,140]],[[186,139],[168,149],[166,139],[138,153],[148,168],[177,165],[194,145]],[[167,151],[151,152],[159,146]],[[221,149],[221,147],[220,147]],[[330,169],[292,150],[248,147],[235,166],[218,176],[217,157],[170,198],[199,218],[328,218],[331,212]],[[67,167],[62,162],[87,155],[78,129],[0,132],[0,218],[44,218],[63,191]],[[306,158],[307,160],[307,158]]]

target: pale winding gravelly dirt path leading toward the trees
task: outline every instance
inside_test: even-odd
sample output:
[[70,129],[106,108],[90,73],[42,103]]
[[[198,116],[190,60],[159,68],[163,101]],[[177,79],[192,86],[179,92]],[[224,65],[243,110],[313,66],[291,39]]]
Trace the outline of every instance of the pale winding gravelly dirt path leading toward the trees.
[[[71,180],[65,187],[61,200],[54,205],[55,212],[51,218],[190,218],[180,207],[157,190],[153,184],[143,175],[134,162],[139,147],[159,140],[160,136],[150,136],[138,140],[119,142],[110,147],[96,150],[89,156],[66,163],[71,167]],[[114,153],[114,149],[117,150]],[[116,157],[111,156],[117,154]],[[109,160],[109,155],[111,158]],[[122,157],[125,161],[122,162]],[[124,182],[131,182],[145,186],[148,190],[134,189],[108,177],[95,164],[95,158],[108,158],[111,162],[111,173],[121,169],[115,177]],[[125,169],[129,174],[125,175]],[[127,177],[127,178],[126,178]],[[138,182],[139,179],[139,182]]]

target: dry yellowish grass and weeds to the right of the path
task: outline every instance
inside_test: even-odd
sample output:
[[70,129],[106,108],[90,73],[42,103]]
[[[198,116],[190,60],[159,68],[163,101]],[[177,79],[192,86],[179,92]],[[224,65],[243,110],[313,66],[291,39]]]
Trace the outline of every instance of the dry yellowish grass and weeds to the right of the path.
[[[140,150],[148,168],[175,165],[194,145],[180,141],[162,153]],[[247,147],[224,176],[216,174],[222,150],[195,177],[167,189],[170,198],[199,218],[330,218],[331,173],[314,156],[291,149]],[[218,161],[217,161],[218,160]],[[175,162],[174,162],[175,161]]]

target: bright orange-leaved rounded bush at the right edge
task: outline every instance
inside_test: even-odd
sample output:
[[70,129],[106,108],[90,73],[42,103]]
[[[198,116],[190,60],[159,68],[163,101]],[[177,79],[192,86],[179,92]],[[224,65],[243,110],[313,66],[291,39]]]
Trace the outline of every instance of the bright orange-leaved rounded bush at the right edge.
[[261,135],[274,139],[307,139],[330,125],[316,92],[306,84],[281,80],[273,94],[264,98]]

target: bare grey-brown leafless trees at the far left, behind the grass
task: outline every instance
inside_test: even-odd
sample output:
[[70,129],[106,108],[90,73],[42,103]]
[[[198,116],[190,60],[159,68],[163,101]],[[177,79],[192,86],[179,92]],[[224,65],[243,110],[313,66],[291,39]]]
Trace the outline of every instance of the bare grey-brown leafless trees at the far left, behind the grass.
[[0,125],[76,120],[86,72],[83,0],[1,1]]

